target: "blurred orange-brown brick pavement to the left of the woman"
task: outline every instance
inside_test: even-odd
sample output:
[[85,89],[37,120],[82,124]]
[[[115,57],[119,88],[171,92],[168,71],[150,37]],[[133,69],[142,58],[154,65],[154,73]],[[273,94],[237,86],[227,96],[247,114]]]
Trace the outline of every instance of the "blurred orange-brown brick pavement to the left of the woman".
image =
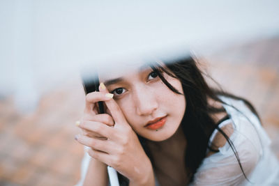
[[0,101],[0,185],[74,185],[82,146],[74,140],[82,114],[80,84],[44,95],[35,113],[17,114],[12,98]]

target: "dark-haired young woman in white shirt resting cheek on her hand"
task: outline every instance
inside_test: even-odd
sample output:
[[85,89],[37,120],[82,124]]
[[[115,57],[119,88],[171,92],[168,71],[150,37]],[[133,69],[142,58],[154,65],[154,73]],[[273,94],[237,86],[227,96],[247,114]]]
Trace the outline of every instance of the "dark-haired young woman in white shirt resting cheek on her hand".
[[[276,185],[278,160],[252,105],[209,87],[191,57],[100,74],[75,139],[79,185]],[[97,102],[107,114],[98,114]]]

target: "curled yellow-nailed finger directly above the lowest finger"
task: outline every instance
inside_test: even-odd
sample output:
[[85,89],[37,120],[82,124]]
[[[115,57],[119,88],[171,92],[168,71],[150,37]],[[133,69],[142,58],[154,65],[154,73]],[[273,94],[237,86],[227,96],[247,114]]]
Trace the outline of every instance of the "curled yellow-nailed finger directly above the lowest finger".
[[84,130],[89,130],[90,132],[99,134],[101,137],[109,138],[112,136],[112,134],[114,134],[113,127],[109,127],[96,121],[84,121],[80,123],[79,127]]

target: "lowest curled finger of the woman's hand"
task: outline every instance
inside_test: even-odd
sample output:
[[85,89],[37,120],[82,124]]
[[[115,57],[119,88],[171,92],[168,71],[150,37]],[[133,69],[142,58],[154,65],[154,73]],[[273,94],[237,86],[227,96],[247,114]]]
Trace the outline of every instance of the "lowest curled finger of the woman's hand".
[[107,140],[104,141],[100,139],[94,139],[81,134],[77,134],[75,136],[75,139],[84,146],[88,146],[90,148],[93,148],[94,150],[99,150],[104,153],[110,153],[110,145],[107,143]]

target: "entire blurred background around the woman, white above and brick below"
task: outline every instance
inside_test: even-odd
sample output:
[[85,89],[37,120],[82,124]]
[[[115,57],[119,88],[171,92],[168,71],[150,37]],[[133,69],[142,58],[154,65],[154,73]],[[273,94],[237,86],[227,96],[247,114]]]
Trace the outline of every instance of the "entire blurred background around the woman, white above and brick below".
[[278,8],[278,1],[0,1],[0,185],[75,185],[80,65],[168,47],[190,50],[225,90],[250,100],[279,157]]

